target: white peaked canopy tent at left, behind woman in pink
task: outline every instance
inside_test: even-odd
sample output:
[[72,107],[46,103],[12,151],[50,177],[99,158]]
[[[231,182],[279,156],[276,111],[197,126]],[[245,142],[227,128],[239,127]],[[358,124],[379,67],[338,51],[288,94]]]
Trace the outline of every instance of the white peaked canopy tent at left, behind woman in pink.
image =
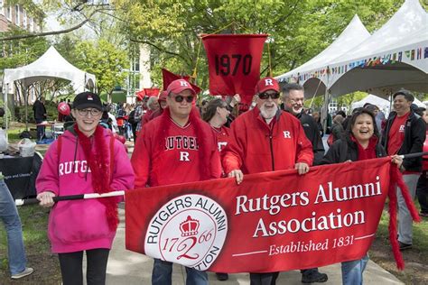
[[17,69],[5,69],[3,86],[8,93],[15,80],[21,80],[24,87],[45,78],[64,78],[71,82],[77,93],[85,87],[95,86],[95,75],[80,70],[65,60],[53,46],[42,57],[29,65]]

